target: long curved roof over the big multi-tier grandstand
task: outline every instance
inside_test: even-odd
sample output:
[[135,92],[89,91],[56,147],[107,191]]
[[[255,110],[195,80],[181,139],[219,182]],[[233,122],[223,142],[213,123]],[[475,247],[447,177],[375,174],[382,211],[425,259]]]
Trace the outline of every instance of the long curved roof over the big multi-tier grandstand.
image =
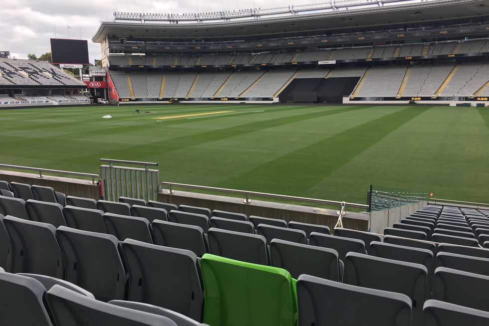
[[231,21],[186,23],[105,21],[100,24],[92,40],[100,43],[106,36],[111,35],[135,38],[266,35],[489,15],[489,0],[407,2],[409,3],[355,9],[345,7],[345,9],[328,12],[298,13],[267,18],[255,16],[252,19]]

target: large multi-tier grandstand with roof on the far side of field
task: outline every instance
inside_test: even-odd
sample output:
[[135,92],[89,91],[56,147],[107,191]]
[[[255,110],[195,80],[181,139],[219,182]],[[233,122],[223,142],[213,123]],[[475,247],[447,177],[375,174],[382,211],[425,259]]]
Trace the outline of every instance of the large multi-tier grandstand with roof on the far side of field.
[[488,32],[488,0],[348,0],[115,12],[92,40],[114,102],[476,105],[489,96]]

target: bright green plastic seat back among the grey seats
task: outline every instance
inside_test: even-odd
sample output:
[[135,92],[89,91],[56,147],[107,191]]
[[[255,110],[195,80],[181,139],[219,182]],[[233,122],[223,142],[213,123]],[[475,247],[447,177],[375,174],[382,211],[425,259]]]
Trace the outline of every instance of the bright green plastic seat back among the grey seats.
[[295,280],[284,269],[211,254],[201,259],[204,323],[211,326],[294,326]]

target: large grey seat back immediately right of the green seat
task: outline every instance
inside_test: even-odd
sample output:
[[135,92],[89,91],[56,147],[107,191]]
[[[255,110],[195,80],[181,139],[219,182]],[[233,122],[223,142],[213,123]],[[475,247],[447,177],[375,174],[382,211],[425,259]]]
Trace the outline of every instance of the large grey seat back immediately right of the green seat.
[[297,298],[301,326],[411,325],[411,300],[400,293],[301,275]]

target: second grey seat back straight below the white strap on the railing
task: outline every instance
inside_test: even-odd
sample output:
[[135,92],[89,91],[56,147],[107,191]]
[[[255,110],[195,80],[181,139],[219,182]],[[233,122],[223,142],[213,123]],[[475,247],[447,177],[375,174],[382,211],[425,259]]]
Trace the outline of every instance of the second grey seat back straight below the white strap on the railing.
[[365,254],[365,242],[359,239],[337,237],[334,235],[327,235],[323,233],[312,232],[309,238],[309,244],[312,246],[319,246],[324,248],[331,248],[336,250],[338,258],[344,262],[345,256],[348,252],[358,252]]

